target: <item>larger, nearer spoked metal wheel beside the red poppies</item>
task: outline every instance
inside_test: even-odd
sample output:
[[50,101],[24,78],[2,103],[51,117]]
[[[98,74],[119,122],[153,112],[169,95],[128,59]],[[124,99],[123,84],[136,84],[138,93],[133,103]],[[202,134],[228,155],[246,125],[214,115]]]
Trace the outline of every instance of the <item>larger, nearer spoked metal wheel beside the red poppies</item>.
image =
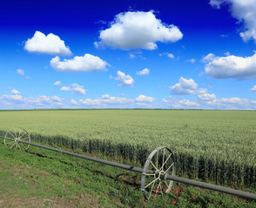
[[146,159],[141,178],[141,191],[145,200],[156,198],[172,189],[172,180],[167,175],[175,175],[175,159],[170,148],[160,146]]

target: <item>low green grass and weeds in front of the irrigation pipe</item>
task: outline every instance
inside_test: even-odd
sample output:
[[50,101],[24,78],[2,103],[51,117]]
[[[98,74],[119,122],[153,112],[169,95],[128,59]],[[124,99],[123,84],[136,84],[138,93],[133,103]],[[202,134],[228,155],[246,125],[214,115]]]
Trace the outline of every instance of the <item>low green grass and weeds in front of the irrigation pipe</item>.
[[170,194],[145,202],[140,177],[34,146],[28,152],[9,149],[0,140],[0,207],[256,207],[255,201],[179,183]]

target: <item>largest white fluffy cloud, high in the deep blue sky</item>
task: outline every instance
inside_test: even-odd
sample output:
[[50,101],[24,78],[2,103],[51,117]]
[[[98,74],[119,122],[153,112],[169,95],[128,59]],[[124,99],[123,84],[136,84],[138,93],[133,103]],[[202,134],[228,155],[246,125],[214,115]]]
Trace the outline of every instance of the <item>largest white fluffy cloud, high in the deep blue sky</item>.
[[182,37],[178,27],[161,23],[152,11],[128,11],[118,14],[94,44],[97,48],[152,50],[158,48],[156,42],[177,42]]

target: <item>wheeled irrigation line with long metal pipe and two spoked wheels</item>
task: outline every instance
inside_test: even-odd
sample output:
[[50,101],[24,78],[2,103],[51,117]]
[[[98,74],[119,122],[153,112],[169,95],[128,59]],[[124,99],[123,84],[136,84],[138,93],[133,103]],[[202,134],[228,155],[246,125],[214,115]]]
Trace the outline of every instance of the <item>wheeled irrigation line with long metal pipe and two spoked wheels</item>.
[[164,195],[171,191],[173,181],[184,183],[187,185],[194,185],[205,189],[210,189],[212,191],[224,192],[232,194],[238,197],[254,199],[256,200],[256,194],[251,192],[243,192],[231,188],[226,188],[220,185],[212,185],[204,182],[199,182],[192,179],[184,179],[178,176],[175,176],[176,166],[175,166],[175,157],[172,153],[172,150],[167,146],[159,146],[148,156],[145,161],[144,168],[127,166],[124,164],[111,162],[104,159],[97,159],[90,156],[86,156],[78,153],[71,153],[64,151],[62,149],[57,149],[51,146],[43,146],[36,143],[30,142],[29,133],[23,128],[14,127],[11,128],[4,137],[4,145],[9,148],[24,149],[28,150],[30,146],[37,146],[57,153],[69,154],[81,159],[89,159],[98,163],[102,163],[108,166],[115,166],[118,168],[123,168],[132,172],[139,172],[142,174],[141,177],[141,192],[145,200],[157,195]]

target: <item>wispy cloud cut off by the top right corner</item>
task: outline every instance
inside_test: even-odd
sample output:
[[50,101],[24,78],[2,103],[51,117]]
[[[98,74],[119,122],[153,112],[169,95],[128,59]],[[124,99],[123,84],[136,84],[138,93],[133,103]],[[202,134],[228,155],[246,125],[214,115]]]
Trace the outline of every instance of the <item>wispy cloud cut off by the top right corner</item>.
[[244,32],[239,35],[247,42],[254,39],[256,42],[256,2],[255,0],[211,0],[212,7],[220,8],[222,3],[227,3],[230,7],[231,14],[239,22],[244,23]]

